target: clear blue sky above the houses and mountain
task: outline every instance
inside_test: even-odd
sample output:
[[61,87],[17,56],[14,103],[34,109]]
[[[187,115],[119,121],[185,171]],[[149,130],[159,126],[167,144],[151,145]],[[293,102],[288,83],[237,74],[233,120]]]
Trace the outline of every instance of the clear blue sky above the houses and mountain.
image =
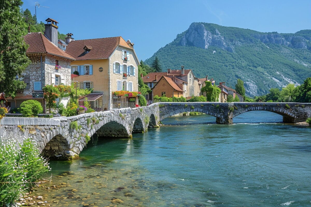
[[59,22],[60,33],[75,39],[122,36],[130,39],[139,59],[151,57],[158,49],[187,30],[192,22],[253,29],[260,32],[295,33],[311,29],[311,1],[82,1],[23,0],[22,8],[43,21]]

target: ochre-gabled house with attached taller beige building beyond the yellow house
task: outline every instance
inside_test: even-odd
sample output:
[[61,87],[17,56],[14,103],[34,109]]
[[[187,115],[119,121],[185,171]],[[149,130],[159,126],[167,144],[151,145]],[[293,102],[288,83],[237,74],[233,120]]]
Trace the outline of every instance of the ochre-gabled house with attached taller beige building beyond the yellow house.
[[152,100],[153,96],[166,97],[185,97],[190,99],[192,96],[200,95],[198,79],[194,76],[192,70],[168,69],[167,72],[148,73],[142,77],[144,83],[152,89],[152,94],[148,94],[146,99]]

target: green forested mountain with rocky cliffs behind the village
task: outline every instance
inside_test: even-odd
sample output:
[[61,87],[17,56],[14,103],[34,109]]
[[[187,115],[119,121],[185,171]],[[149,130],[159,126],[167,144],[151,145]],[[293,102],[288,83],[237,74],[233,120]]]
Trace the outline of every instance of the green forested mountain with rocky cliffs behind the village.
[[229,87],[240,78],[248,96],[262,95],[311,76],[311,30],[279,34],[192,23],[146,64],[156,56],[164,71],[184,65],[198,78],[208,75]]

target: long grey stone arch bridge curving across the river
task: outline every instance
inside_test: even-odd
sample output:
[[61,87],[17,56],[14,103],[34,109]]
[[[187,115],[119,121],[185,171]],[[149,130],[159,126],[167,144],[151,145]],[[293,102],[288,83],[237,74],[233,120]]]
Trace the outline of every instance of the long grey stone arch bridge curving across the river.
[[219,124],[233,124],[233,117],[253,110],[271,111],[283,116],[283,122],[295,123],[311,117],[311,103],[154,103],[139,108],[93,112],[72,117],[3,117],[0,141],[32,137],[43,155],[54,159],[72,159],[80,154],[96,133],[103,137],[132,137],[161,120],[183,112],[202,112],[216,117]]

